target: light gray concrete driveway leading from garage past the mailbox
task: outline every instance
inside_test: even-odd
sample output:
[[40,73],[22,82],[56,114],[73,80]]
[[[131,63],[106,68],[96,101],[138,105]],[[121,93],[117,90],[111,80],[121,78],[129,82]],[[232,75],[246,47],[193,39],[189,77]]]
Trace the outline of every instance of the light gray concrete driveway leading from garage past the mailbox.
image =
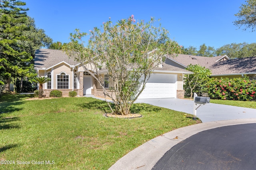
[[[138,99],[136,102],[193,114],[193,100],[166,98]],[[221,120],[249,119],[256,118],[256,109],[210,103],[200,106],[197,109],[197,117],[201,119],[203,123]]]

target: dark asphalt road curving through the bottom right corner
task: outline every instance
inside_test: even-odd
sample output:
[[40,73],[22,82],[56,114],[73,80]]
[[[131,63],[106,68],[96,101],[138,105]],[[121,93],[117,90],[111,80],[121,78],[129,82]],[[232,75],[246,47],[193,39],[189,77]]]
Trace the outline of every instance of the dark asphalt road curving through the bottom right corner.
[[199,132],[168,150],[152,170],[255,170],[256,123]]

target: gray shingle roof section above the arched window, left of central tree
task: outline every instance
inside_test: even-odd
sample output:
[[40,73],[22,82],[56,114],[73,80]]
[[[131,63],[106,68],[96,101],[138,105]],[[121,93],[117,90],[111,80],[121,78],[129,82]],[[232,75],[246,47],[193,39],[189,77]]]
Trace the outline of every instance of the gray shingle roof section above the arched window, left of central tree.
[[34,69],[50,68],[58,63],[61,63],[62,61],[65,61],[70,65],[78,64],[77,61],[70,59],[68,55],[61,50],[39,49],[36,50]]

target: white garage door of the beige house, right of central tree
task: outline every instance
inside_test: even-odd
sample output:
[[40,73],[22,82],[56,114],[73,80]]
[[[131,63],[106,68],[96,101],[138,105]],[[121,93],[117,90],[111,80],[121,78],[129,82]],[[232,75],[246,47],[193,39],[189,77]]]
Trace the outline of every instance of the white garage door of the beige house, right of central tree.
[[177,74],[152,74],[138,98],[176,98],[176,80]]

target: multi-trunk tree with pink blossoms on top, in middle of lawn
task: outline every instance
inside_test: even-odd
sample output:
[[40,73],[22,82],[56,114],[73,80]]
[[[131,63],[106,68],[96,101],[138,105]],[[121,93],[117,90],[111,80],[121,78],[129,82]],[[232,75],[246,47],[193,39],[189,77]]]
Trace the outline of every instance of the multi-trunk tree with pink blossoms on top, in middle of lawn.
[[[70,43],[62,47],[99,82],[105,100],[106,96],[112,99],[114,105],[108,103],[108,106],[113,114],[129,114],[153,68],[161,64],[166,55],[181,52],[180,45],[168,37],[168,31],[161,25],[154,26],[155,23],[154,18],[148,22],[136,21],[133,15],[115,24],[109,18],[100,28],[89,30],[87,44],[82,40],[87,33],[76,29],[70,33]],[[108,74],[111,90],[104,87],[102,70]]]

